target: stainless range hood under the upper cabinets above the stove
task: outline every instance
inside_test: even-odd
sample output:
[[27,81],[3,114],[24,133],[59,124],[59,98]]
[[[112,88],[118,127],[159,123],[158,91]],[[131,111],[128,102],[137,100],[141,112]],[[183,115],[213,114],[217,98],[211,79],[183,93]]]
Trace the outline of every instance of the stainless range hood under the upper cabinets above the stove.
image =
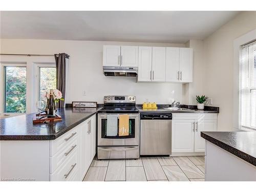
[[103,66],[103,74],[105,76],[136,77],[138,67]]

